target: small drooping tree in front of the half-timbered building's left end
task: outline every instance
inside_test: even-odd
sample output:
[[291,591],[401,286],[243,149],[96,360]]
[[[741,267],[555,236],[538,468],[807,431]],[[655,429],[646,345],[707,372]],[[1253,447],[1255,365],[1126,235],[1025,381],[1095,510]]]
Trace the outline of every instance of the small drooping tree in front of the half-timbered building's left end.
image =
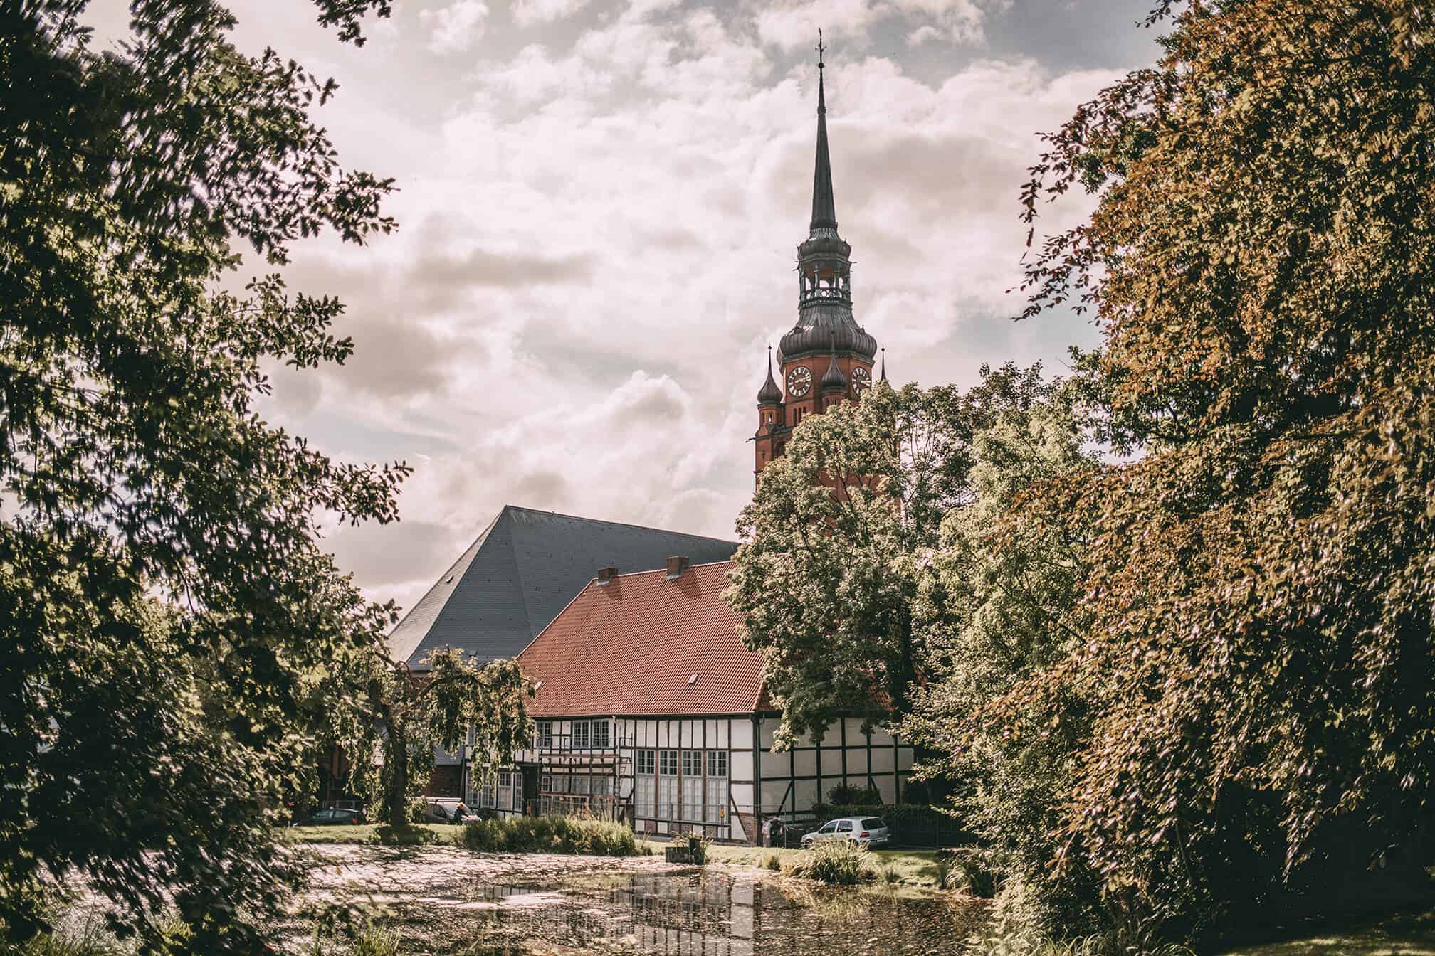
[[[433,750],[456,751],[474,731],[474,751],[494,773],[534,738],[524,699],[532,694],[518,665],[476,665],[462,651],[436,651],[429,671],[413,672],[386,654],[367,654],[344,682],[354,687],[349,707],[337,708],[337,738],[354,757],[353,781],[369,795],[370,814],[392,827],[409,824],[409,806],[433,770]],[[340,689],[340,692],[343,692]]]

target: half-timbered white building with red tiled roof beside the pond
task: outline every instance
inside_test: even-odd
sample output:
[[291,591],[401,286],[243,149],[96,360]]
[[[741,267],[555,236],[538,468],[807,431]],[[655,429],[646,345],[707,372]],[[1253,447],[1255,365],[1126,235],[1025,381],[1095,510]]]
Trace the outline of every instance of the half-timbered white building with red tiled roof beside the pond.
[[855,718],[773,748],[762,655],[722,599],[730,568],[674,558],[650,572],[603,569],[518,655],[537,688],[537,735],[512,767],[469,768],[471,806],[756,843],[766,821],[811,818],[838,785],[897,803],[911,747]]

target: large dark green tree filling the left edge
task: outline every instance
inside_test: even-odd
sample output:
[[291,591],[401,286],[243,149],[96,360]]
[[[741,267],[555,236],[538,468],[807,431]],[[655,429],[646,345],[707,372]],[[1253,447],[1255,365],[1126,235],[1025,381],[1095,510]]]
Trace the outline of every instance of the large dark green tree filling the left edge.
[[[0,936],[88,881],[112,926],[255,952],[298,877],[274,844],[311,784],[331,662],[377,646],[320,516],[392,520],[402,464],[340,464],[254,411],[264,363],[343,361],[333,298],[251,254],[392,221],[309,110],[333,83],[227,39],[210,0],[0,4]],[[317,0],[357,42],[383,0]]]

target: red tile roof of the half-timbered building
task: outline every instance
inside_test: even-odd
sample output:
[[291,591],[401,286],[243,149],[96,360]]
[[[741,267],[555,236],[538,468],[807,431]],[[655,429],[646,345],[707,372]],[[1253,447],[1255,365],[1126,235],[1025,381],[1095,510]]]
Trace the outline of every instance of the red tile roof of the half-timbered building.
[[762,655],[743,646],[738,613],[722,599],[729,568],[588,582],[518,655],[528,679],[542,681],[534,717],[751,714]]

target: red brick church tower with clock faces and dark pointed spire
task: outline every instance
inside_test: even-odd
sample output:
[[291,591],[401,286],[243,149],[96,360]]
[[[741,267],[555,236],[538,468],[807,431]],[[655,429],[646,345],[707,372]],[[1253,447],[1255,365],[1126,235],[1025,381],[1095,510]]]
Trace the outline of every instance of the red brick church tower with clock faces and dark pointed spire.
[[852,318],[852,247],[837,234],[821,42],[817,49],[817,165],[812,221],[808,238],[798,245],[798,321],[778,348],[781,384],[772,377],[771,350],[768,354],[768,380],[758,393],[753,473],[782,456],[802,419],[860,398],[872,386],[877,357],[877,340]]

